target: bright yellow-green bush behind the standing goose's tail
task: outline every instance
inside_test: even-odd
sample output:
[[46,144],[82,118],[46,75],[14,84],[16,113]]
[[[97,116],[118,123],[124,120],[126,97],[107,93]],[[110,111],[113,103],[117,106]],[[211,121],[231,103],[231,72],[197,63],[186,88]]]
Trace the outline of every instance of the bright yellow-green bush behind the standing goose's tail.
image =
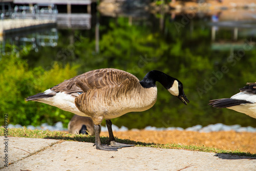
[[[25,101],[25,98],[75,76],[77,67],[54,63],[47,71],[42,67],[29,70],[26,60],[21,59],[26,55],[23,51],[19,55],[6,54],[0,60],[0,113],[8,113],[8,120],[13,124],[53,124],[60,119],[67,124],[72,115],[50,105]],[[4,123],[2,119],[1,116],[1,123]]]

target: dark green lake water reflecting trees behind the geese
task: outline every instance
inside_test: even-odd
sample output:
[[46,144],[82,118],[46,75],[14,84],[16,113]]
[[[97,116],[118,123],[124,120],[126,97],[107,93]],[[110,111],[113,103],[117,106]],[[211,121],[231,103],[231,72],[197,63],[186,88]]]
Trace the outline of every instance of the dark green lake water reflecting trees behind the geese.
[[[211,123],[256,127],[255,119],[228,109],[214,109],[211,99],[227,98],[246,82],[255,82],[255,20],[222,19],[222,14],[174,14],[91,18],[87,29],[48,28],[7,36],[10,45],[28,46],[29,67],[50,69],[54,61],[78,65],[78,74],[99,68],[125,70],[142,79],[151,70],[178,78],[190,103],[185,106],[161,84],[155,106],[114,119],[116,125],[141,128],[189,127]],[[68,79],[68,78],[67,78]],[[54,82],[53,85],[59,82]],[[143,122],[143,125],[140,124]]]

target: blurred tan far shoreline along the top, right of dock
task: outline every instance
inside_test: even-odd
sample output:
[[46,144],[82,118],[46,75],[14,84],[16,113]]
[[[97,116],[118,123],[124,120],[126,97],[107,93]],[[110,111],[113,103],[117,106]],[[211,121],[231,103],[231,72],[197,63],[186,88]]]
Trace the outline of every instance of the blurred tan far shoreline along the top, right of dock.
[[[220,2],[221,1],[221,2]],[[159,5],[156,2],[144,4],[141,6],[134,5],[126,9],[125,1],[102,1],[97,9],[104,16],[118,17],[142,17],[146,13],[155,15],[180,15],[180,14],[203,14],[212,16],[221,14],[219,20],[255,20],[256,19],[256,2],[253,0],[192,0],[189,2],[177,1],[165,5]],[[198,3],[200,2],[200,3]],[[130,5],[133,5],[132,3]],[[133,12],[131,12],[133,11]],[[137,11],[134,12],[134,11]]]

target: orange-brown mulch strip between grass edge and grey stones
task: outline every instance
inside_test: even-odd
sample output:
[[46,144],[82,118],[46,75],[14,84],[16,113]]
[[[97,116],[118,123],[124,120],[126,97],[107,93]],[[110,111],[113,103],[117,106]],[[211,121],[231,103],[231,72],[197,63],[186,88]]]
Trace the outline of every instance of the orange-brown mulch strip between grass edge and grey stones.
[[[190,131],[125,131],[113,132],[115,137],[151,143],[178,143],[183,145],[204,145],[226,150],[240,149],[242,152],[256,154],[256,133],[237,133],[220,131],[199,133]],[[101,132],[100,136],[109,136]]]

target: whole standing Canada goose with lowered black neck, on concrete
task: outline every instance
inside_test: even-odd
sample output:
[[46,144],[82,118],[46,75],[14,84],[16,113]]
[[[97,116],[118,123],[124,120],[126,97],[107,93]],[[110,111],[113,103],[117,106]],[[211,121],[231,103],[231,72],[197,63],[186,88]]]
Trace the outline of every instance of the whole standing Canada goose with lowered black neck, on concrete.
[[[93,70],[65,80],[26,100],[50,104],[76,115],[91,117],[95,124],[96,149],[117,151],[117,148],[133,145],[115,142],[111,119],[129,112],[150,109],[157,100],[156,81],[187,105],[189,100],[184,94],[182,83],[156,70],[148,72],[141,81],[122,70]],[[103,119],[106,120],[111,146],[100,142],[99,129]]]

